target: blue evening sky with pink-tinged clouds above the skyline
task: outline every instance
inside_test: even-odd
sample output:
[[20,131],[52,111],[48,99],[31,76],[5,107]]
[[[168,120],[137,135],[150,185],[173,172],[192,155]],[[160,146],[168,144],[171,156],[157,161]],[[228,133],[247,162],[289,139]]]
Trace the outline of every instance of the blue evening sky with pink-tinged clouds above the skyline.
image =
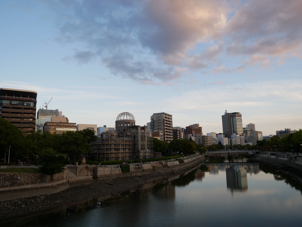
[[220,133],[227,110],[263,135],[302,128],[299,0],[3,0],[0,32],[0,87],[69,122],[166,112]]

